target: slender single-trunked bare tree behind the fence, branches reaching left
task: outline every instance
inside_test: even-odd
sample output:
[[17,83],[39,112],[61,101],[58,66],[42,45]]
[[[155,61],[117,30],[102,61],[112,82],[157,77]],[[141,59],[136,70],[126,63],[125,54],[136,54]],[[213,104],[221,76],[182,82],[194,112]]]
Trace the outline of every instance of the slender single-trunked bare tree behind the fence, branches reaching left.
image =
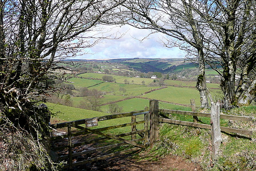
[[206,107],[208,99],[204,50],[200,34],[203,23],[193,15],[192,5],[192,0],[128,0],[123,4],[128,9],[128,24],[136,28],[151,29],[152,33],[161,32],[166,35],[165,40],[162,40],[164,46],[178,46],[197,57],[199,75],[196,87],[200,92],[201,106]]

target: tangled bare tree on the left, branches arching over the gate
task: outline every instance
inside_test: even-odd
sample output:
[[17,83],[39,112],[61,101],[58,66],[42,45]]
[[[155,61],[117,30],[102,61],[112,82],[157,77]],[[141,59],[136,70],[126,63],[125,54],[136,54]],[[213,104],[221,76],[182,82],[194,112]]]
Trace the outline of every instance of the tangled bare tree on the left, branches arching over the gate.
[[29,126],[36,102],[52,88],[48,81],[64,76],[56,64],[111,38],[98,25],[111,23],[123,2],[0,0],[1,112]]

